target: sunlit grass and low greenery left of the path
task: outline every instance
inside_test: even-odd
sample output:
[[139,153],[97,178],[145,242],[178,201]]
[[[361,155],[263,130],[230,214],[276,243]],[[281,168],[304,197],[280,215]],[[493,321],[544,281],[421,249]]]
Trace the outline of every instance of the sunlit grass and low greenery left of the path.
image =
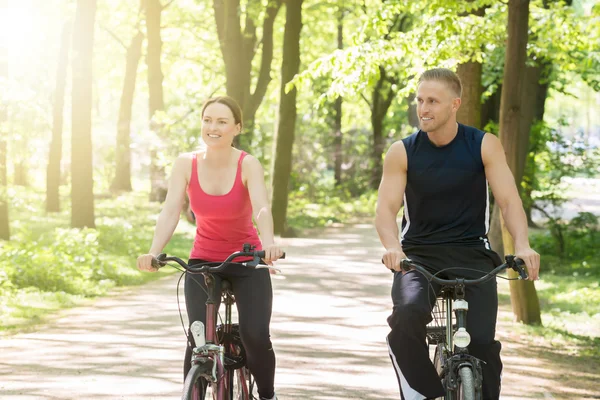
[[[135,268],[136,257],[150,246],[161,207],[148,202],[146,193],[97,199],[96,229],[81,230],[69,227],[68,193],[63,211],[46,213],[43,193],[11,189],[11,240],[0,243],[0,334],[29,330],[57,310],[175,271]],[[192,232],[182,221],[165,251],[186,257]]]

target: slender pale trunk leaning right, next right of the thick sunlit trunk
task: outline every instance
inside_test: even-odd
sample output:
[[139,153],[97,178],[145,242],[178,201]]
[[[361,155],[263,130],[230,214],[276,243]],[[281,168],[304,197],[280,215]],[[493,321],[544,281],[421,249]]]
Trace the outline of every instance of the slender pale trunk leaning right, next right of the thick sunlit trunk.
[[144,35],[138,31],[127,48],[125,77],[119,106],[119,122],[117,123],[115,177],[110,186],[112,192],[131,191],[131,110],[143,41]]

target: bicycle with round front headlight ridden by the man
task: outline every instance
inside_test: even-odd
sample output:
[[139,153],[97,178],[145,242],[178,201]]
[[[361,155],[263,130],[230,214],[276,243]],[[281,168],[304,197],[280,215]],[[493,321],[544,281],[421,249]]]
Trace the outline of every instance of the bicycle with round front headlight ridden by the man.
[[[478,279],[441,279],[410,259],[400,263],[402,270],[415,269],[429,282],[441,285],[432,314],[434,320],[427,326],[427,343],[435,345],[433,364],[446,390],[445,400],[480,400],[483,374],[481,361],[469,355],[467,346],[471,337],[466,329],[469,305],[465,300],[465,286],[477,285],[493,279],[507,268],[519,273],[517,279],[527,279],[523,260],[512,255],[505,263]],[[440,271],[442,272],[442,271]],[[452,314],[456,315],[453,323]],[[445,322],[441,325],[440,321]]]

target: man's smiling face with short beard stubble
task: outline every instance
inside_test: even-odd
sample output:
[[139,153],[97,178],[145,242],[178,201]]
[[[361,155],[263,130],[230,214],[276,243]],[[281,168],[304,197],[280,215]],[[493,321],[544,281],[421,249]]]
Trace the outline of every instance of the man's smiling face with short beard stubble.
[[423,81],[417,88],[417,116],[424,132],[435,132],[445,126],[460,105],[460,98],[447,83]]

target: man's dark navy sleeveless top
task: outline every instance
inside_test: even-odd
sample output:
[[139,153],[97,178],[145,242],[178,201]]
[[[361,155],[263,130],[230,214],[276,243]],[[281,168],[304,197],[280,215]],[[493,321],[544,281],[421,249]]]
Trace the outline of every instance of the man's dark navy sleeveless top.
[[419,131],[402,139],[408,156],[401,242],[485,246],[489,195],[481,159],[485,132],[458,124],[456,137],[437,147]]

